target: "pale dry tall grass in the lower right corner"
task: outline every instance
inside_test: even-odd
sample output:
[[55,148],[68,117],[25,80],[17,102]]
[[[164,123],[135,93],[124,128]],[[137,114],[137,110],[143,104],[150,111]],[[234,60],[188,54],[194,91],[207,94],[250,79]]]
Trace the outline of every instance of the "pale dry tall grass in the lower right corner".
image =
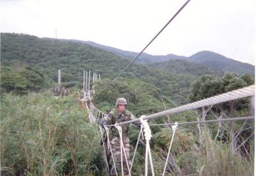
[[[205,142],[200,146],[198,161],[199,175],[254,175],[254,161],[232,152],[231,143],[212,140],[209,130],[204,131]],[[251,156],[253,158],[254,152]]]

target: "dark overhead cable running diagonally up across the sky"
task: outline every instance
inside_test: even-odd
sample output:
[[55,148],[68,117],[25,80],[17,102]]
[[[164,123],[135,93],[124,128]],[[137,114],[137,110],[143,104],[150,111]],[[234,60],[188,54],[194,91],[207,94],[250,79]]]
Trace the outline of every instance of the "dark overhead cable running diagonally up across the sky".
[[[113,79],[107,86],[106,88],[108,88],[108,86],[113,83],[114,81],[116,81],[116,79],[118,77],[120,77],[125,70],[127,70],[128,67],[130,67],[130,65],[136,61],[138,59],[138,57],[142,54],[143,51],[145,51],[145,49],[147,49],[147,47],[157,38],[157,36],[159,36],[159,34],[166,28],[166,26],[168,26],[168,24],[170,24],[170,22],[172,22],[173,19],[175,19],[175,17],[182,11],[182,9],[189,3],[190,0],[186,1],[186,3],[184,3],[179,10],[173,15],[173,17],[168,20],[168,22],[164,25],[164,27],[157,33],[156,36],[154,36],[154,38],[152,38],[152,40],[150,40],[150,42],[142,49],[142,51],[124,68],[124,70],[122,70],[122,72],[120,74],[118,74],[118,76],[115,77],[115,79]],[[103,90],[105,90],[106,88],[104,88]]]

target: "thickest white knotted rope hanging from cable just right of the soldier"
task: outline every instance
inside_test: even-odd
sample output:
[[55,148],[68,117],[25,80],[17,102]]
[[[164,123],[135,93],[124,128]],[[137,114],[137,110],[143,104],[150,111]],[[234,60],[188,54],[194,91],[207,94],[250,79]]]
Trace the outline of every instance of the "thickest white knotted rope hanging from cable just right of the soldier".
[[147,120],[143,120],[143,116],[140,117],[140,122],[144,128],[144,132],[145,132],[145,140],[146,140],[146,154],[145,154],[145,176],[148,175],[148,156],[149,156],[149,160],[150,160],[150,166],[151,166],[151,172],[152,175],[154,176],[154,168],[153,168],[153,162],[152,162],[152,156],[151,156],[151,152],[150,152],[150,145],[149,145],[149,140],[151,139],[152,135],[151,135],[151,131],[150,131],[150,127],[148,126],[148,122]]

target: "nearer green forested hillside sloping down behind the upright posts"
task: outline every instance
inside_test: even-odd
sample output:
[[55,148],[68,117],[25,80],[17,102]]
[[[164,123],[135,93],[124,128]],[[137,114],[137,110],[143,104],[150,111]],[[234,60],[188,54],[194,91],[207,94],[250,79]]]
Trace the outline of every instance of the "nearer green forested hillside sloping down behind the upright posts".
[[[113,52],[86,44],[1,33],[2,90],[12,90],[13,87],[24,90],[28,82],[33,90],[40,86],[52,86],[58,80],[58,69],[61,69],[63,85],[82,86],[83,70],[92,70],[101,74],[102,78],[113,79],[128,63],[129,60]],[[152,84],[160,96],[180,103],[188,101],[191,83],[198,79],[196,74],[166,72],[136,63],[123,76]],[[41,85],[43,82],[45,85]]]

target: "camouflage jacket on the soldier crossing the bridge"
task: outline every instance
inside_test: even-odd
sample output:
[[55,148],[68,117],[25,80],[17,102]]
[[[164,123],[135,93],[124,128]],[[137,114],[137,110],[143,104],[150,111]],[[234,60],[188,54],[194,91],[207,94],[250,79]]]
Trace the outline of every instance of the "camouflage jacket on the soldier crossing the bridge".
[[[120,124],[125,121],[134,120],[136,119],[134,115],[127,109],[124,110],[123,113],[119,114],[117,109],[112,109],[107,116],[102,118],[107,125],[111,124]],[[129,131],[129,124],[122,125],[122,134],[123,136],[128,136]],[[109,131],[109,138],[113,138],[114,136],[119,136],[118,131],[116,127],[111,127],[111,130]]]

